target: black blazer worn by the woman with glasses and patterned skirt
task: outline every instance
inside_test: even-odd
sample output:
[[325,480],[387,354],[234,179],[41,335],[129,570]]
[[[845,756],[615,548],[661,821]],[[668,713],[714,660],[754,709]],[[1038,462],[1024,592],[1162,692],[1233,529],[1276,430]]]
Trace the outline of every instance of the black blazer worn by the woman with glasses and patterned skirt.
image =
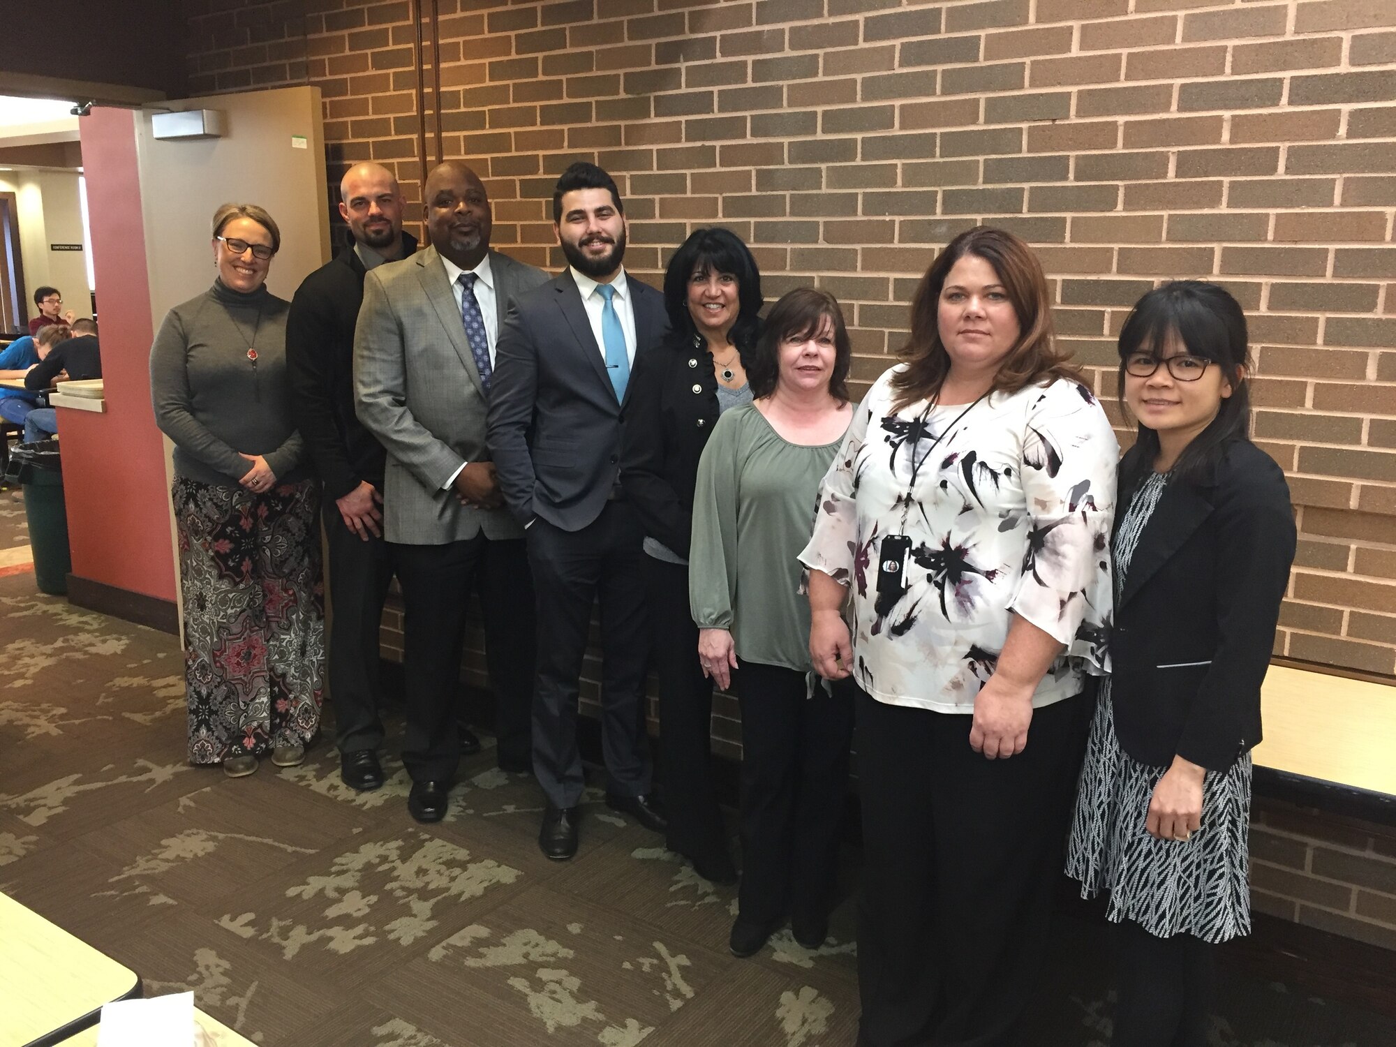
[[1249,441],[1230,444],[1206,483],[1164,489],[1110,637],[1115,736],[1129,757],[1226,771],[1261,741],[1261,681],[1294,542],[1284,473]]

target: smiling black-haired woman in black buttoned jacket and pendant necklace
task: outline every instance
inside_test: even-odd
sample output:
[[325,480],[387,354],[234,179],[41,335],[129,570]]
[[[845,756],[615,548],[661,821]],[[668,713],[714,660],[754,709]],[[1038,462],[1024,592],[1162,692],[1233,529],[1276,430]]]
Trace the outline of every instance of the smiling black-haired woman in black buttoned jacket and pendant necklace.
[[761,272],[726,229],[698,229],[664,274],[669,339],[635,362],[620,482],[645,524],[646,596],[659,670],[667,846],[716,884],[737,879],[712,787],[712,683],[688,610],[698,459],[718,416],[751,401],[743,359],[759,335]]

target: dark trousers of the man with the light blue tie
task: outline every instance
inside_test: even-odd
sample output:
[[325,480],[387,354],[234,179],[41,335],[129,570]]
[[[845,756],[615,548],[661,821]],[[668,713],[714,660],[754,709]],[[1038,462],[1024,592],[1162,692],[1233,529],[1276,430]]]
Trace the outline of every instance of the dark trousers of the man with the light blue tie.
[[645,734],[644,528],[624,501],[609,501],[581,530],[535,519],[525,532],[537,589],[537,680],[533,687],[533,773],[554,807],[582,799],[582,755],[577,747],[577,698],[592,603],[602,617],[602,754],[606,789],[644,796],[651,789]]

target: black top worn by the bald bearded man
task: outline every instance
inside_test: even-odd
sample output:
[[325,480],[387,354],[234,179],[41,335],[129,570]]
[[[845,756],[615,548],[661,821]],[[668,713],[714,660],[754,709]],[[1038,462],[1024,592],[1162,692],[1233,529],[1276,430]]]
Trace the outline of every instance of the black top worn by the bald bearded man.
[[[416,237],[403,233],[402,257],[416,250]],[[286,315],[290,410],[327,501],[342,498],[363,480],[383,490],[387,452],[355,413],[353,332],[363,274],[353,233],[345,233],[339,254],[300,282]]]

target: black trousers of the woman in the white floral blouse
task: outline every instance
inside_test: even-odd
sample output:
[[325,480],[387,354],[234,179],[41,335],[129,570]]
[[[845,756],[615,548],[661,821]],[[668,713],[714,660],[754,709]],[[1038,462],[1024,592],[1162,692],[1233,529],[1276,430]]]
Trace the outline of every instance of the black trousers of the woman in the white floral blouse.
[[1018,1043],[1089,715],[1082,695],[1037,709],[1027,748],[986,759],[970,716],[859,690],[861,1047]]

